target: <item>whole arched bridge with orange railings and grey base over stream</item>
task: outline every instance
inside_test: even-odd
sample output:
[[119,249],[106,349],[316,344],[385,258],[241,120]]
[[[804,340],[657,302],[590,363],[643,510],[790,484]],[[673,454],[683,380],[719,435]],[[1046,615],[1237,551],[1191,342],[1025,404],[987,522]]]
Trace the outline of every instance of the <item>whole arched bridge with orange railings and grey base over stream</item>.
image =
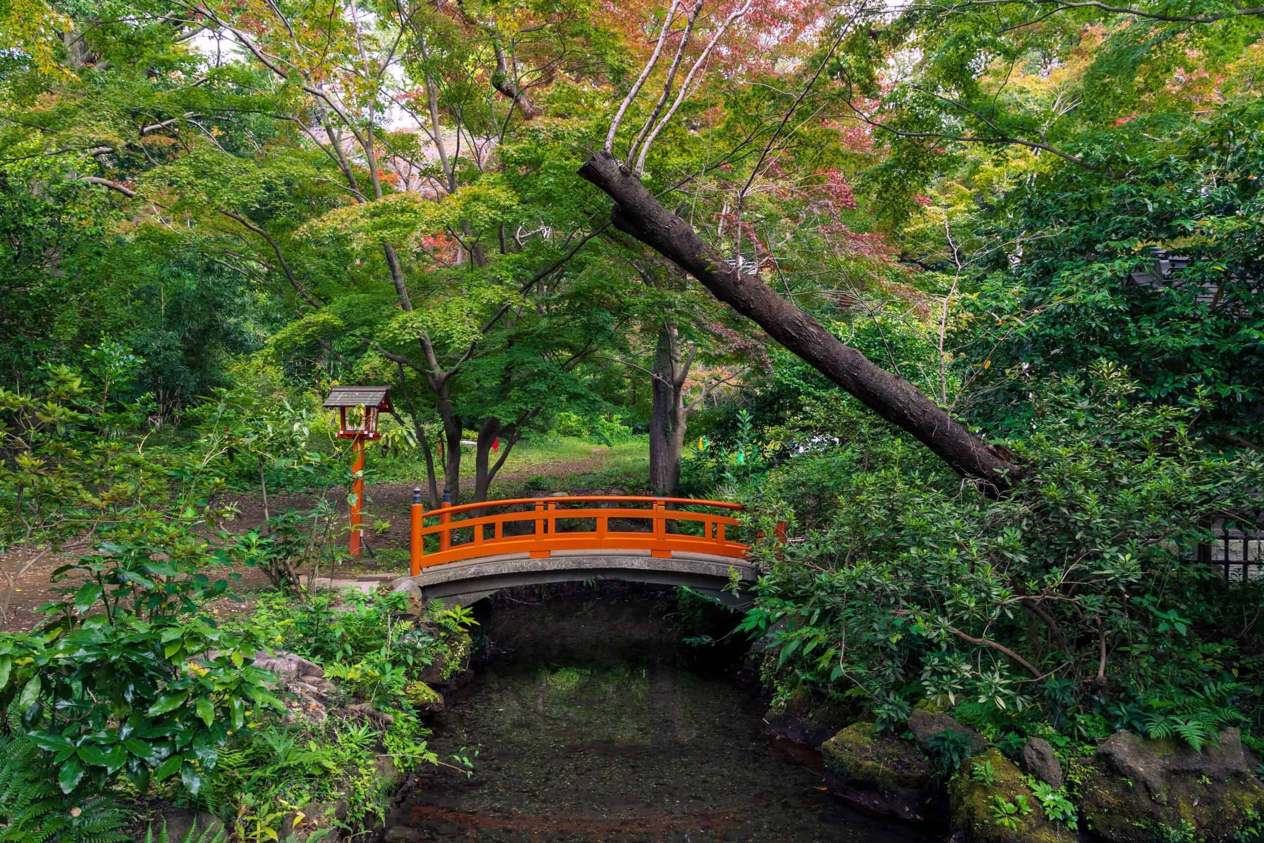
[[590,579],[688,585],[743,605],[758,571],[732,536],[741,511],[726,500],[595,494],[426,512],[416,489],[412,580],[427,599],[465,605],[506,588]]

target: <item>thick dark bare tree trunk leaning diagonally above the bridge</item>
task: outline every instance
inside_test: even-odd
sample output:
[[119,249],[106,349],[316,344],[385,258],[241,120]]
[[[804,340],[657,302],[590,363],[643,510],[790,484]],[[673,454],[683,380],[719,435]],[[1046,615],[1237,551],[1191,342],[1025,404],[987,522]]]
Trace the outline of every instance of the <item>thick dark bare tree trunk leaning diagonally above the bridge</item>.
[[1004,492],[1015,483],[1019,469],[1002,449],[971,434],[904,378],[839,341],[810,313],[777,296],[758,277],[734,269],[611,153],[602,149],[593,153],[579,174],[614,200],[612,221],[617,229],[671,259],[715,298],[755,321],[878,416],[915,436],[957,473],[982,480],[990,494]]

